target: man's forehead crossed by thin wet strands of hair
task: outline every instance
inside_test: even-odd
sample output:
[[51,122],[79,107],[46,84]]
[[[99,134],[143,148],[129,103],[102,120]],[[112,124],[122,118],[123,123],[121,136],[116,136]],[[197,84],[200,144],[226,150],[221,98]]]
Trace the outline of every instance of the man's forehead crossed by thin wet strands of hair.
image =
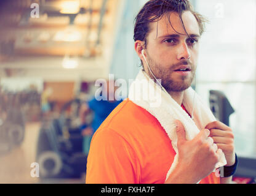
[[[169,18],[167,18],[169,17]],[[188,34],[199,35],[198,21],[190,11],[182,13],[183,24]],[[186,35],[185,29],[183,28],[182,21],[177,12],[172,12],[164,15],[161,20],[150,24],[150,34],[154,36],[154,39],[167,36],[168,34],[184,34]]]

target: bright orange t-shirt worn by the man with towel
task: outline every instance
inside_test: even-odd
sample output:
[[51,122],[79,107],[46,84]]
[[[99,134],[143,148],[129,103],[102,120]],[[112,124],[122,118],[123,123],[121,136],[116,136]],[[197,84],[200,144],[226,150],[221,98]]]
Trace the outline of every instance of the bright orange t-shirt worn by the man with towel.
[[[92,138],[86,183],[162,184],[174,156],[170,138],[158,120],[126,99]],[[211,173],[201,183],[220,183],[220,179]]]

